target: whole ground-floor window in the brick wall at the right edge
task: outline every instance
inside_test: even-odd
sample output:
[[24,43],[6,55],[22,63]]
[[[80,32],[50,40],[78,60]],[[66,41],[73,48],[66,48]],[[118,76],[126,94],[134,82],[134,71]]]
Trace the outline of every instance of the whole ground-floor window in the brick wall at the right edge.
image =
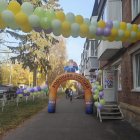
[[140,90],[140,51],[133,55],[133,81],[134,89]]

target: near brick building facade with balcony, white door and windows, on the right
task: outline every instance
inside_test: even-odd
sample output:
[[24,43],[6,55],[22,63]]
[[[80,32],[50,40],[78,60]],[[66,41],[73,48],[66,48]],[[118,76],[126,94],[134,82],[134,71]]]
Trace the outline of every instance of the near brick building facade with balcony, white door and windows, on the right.
[[[140,0],[100,0],[97,9],[97,21],[140,24]],[[122,43],[102,40],[97,44],[105,100],[117,102],[125,119],[140,129],[140,41]],[[87,65],[86,62],[84,65]]]

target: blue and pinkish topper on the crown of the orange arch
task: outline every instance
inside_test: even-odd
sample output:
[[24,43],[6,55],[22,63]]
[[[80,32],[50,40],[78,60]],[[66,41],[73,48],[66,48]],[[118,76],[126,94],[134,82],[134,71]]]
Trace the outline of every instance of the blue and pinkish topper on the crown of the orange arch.
[[64,67],[66,72],[76,72],[78,70],[78,65],[72,59],[69,60],[68,65]]

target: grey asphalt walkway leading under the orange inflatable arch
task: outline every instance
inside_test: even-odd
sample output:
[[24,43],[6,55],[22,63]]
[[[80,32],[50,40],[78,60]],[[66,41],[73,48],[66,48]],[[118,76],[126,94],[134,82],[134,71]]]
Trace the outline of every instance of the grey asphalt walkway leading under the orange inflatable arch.
[[12,130],[2,140],[139,140],[126,121],[103,121],[84,112],[84,101],[58,100],[56,113],[47,108]]

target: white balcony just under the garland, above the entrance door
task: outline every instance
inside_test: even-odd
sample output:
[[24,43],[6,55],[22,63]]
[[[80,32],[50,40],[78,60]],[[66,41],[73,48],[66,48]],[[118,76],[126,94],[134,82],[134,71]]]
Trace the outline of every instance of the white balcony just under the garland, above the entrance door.
[[121,41],[101,41],[98,46],[98,59],[99,60],[109,60],[122,48]]

